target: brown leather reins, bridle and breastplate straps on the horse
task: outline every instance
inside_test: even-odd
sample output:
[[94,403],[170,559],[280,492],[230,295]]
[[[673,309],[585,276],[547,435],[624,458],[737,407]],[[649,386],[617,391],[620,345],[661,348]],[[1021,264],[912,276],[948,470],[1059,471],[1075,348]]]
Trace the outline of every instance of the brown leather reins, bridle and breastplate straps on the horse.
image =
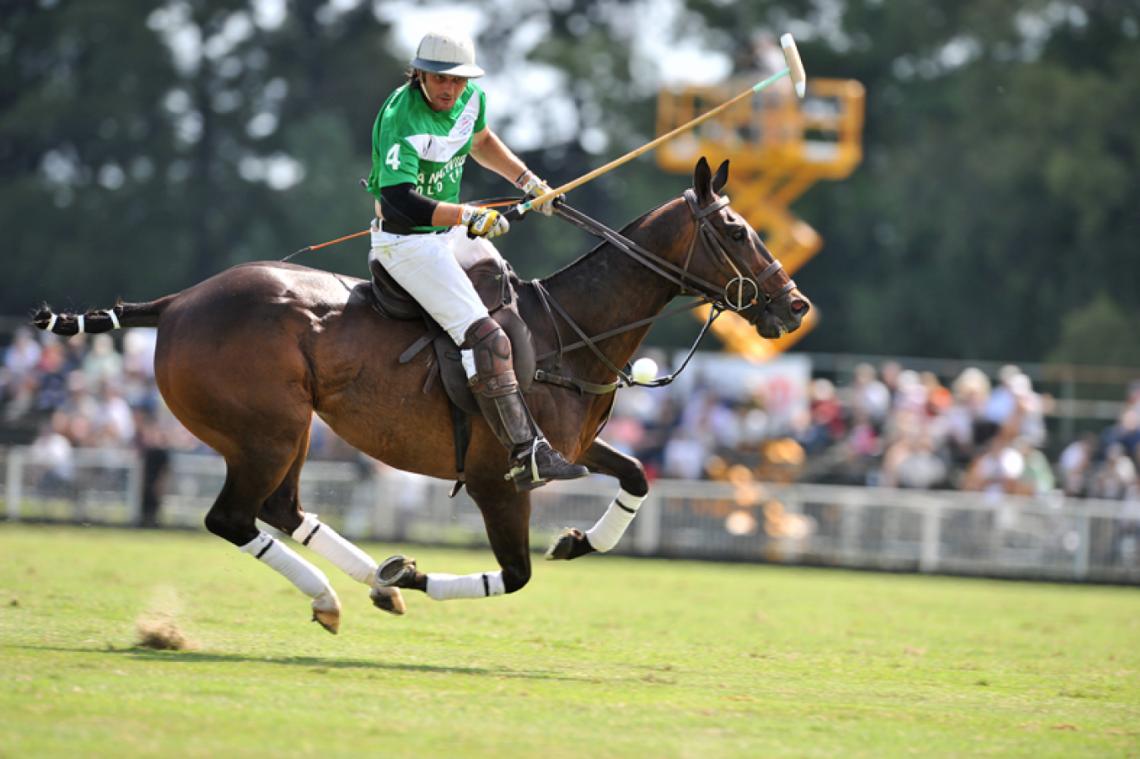
[[[537,362],[542,364],[545,360],[554,358],[554,370],[548,372],[545,369],[537,369],[535,372],[535,379],[538,382],[544,382],[547,384],[559,385],[562,387],[569,387],[571,390],[577,390],[579,393],[589,393],[595,395],[602,395],[616,391],[618,387],[629,387],[634,385],[641,385],[644,387],[660,387],[671,383],[677,375],[679,375],[689,361],[692,359],[693,354],[697,352],[698,345],[700,345],[701,340],[708,333],[709,327],[716,321],[725,311],[741,312],[749,309],[760,302],[763,299],[764,303],[771,303],[772,301],[788,295],[792,289],[796,288],[796,283],[789,278],[789,280],[774,294],[765,293],[762,285],[775,276],[783,269],[783,266],[776,261],[774,258],[769,259],[768,266],[760,271],[758,275],[752,276],[749,272],[749,268],[743,262],[739,261],[732,254],[732,246],[724,238],[724,236],[712,227],[709,221],[709,217],[715,213],[719,213],[722,209],[728,205],[728,196],[722,195],[716,201],[705,206],[700,207],[697,199],[697,193],[692,189],[686,189],[684,193],[684,198],[689,205],[690,212],[697,221],[697,231],[693,234],[692,239],[689,243],[689,250],[685,253],[684,266],[677,266],[673,261],[669,261],[657,253],[638,245],[628,237],[621,235],[613,229],[610,229],[600,221],[591,219],[585,213],[571,209],[565,203],[557,203],[555,205],[555,213],[562,219],[569,221],[570,223],[586,230],[587,232],[602,238],[606,243],[613,245],[616,248],[632,258],[637,263],[642,264],[650,271],[663,277],[668,281],[677,285],[681,288],[681,295],[691,295],[694,301],[685,303],[681,307],[662,311],[652,317],[645,319],[638,319],[627,325],[616,327],[613,329],[608,329],[600,334],[589,336],[583,330],[583,328],[570,317],[567,310],[559,303],[554,297],[546,291],[537,279],[531,280],[530,285],[535,287],[538,294],[538,300],[542,302],[547,317],[554,327],[554,337],[557,343],[557,348],[553,351],[547,351],[537,358]],[[697,251],[697,242],[700,239],[703,248],[711,254],[714,262],[717,268],[725,272],[730,277],[728,281],[722,285],[715,285],[697,275],[692,274],[689,268],[692,264],[693,254]],[[767,251],[760,248],[765,255]],[[746,274],[747,272],[747,274]],[[665,376],[658,377],[651,382],[638,382],[634,379],[627,372],[619,368],[613,361],[610,360],[608,356],[597,346],[597,343],[613,337],[616,335],[637,329],[645,325],[652,324],[658,319],[663,319],[666,317],[679,313],[682,311],[692,310],[706,303],[710,304],[712,308],[709,310],[708,319],[705,321],[705,326],[698,333],[692,346],[689,349],[689,353],[685,356],[684,360],[677,369]],[[559,330],[557,321],[554,319],[554,313],[565,321],[570,328],[578,336],[578,341],[564,345],[562,343],[562,334]],[[752,321],[751,319],[749,321]],[[594,356],[611,372],[618,375],[618,379],[611,383],[598,384],[586,382],[584,379],[578,379],[577,377],[567,377],[557,374],[561,370],[562,356],[570,351],[577,350],[579,348],[587,348]]]

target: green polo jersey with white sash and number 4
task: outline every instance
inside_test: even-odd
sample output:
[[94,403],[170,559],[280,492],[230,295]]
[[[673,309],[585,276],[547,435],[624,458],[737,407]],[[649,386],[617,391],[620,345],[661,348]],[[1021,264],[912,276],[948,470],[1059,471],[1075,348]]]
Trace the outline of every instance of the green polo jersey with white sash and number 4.
[[[463,164],[472,137],[487,125],[487,98],[473,82],[450,111],[432,111],[417,88],[397,88],[380,107],[372,128],[368,191],[410,182],[416,191],[445,203],[459,202]],[[416,229],[445,229],[417,227]]]

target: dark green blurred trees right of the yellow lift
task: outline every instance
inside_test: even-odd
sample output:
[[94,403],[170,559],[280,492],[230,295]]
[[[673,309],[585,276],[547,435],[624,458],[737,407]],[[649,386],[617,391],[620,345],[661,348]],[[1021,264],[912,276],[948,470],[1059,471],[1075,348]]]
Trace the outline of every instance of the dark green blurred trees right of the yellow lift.
[[826,313],[805,349],[1034,360],[1075,294],[1135,308],[1134,5],[849,0],[806,21],[809,73],[863,81],[868,120],[864,165],[798,205],[825,238],[799,276]]

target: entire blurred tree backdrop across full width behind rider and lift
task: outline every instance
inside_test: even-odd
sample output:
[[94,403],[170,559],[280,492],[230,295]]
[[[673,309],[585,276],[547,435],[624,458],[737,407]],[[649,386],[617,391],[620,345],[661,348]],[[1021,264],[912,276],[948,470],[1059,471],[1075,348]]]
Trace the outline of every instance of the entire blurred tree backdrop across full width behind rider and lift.
[[[511,18],[478,40],[490,123],[555,185],[653,137],[682,44],[746,71],[757,34],[791,31],[809,75],[864,82],[865,163],[796,209],[826,242],[799,275],[826,315],[804,349],[1034,360],[1090,293],[1140,309],[1135,3],[507,5],[465,6]],[[0,2],[0,311],[149,297],[363,229],[356,180],[406,62],[393,8]],[[571,202],[620,227],[685,183],[643,157]],[[507,193],[469,172],[467,197]],[[565,229],[528,219],[503,250],[543,275],[595,242]],[[301,263],[359,275],[364,247]]]

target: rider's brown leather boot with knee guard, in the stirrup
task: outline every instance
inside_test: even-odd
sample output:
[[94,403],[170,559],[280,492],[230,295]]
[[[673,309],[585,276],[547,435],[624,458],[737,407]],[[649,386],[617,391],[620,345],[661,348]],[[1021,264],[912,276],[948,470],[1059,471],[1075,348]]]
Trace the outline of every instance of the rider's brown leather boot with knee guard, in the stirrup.
[[511,454],[504,479],[519,491],[549,480],[576,480],[589,470],[571,464],[543,438],[527,409],[511,362],[511,341],[494,319],[480,319],[467,329],[466,345],[475,357],[471,390],[491,432]]

